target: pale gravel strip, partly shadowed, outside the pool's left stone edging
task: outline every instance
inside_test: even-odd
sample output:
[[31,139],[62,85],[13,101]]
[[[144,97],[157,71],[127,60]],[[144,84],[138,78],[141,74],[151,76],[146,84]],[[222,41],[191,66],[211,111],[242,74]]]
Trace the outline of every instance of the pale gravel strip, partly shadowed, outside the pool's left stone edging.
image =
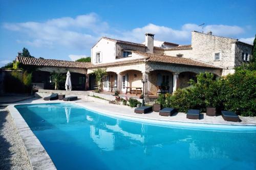
[[0,107],[0,169],[32,169],[23,141],[6,107]]

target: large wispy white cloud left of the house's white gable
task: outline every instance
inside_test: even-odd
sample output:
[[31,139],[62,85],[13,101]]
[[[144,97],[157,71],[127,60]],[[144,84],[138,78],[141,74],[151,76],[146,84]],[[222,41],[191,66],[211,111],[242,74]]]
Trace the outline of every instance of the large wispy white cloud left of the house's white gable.
[[4,23],[4,28],[28,35],[28,39],[17,40],[18,43],[36,47],[63,45],[84,50],[90,48],[103,31],[108,30],[108,23],[91,13],[46,22]]

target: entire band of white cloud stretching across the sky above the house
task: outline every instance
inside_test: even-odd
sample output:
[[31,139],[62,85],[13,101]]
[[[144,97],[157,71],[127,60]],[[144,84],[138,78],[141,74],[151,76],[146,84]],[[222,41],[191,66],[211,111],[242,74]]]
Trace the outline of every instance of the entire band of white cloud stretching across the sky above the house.
[[[107,22],[101,21],[95,13],[72,17],[50,19],[45,22],[5,23],[4,28],[20,32],[28,38],[17,40],[35,47],[54,48],[63,46],[78,50],[90,50],[98,39],[103,36],[141,43],[145,33],[156,34],[155,39],[179,44],[189,44],[191,31],[202,31],[195,23],[186,23],[180,29],[158,26],[148,23],[146,26],[132,30],[116,30]],[[212,31],[213,35],[237,38],[245,32],[239,26],[205,25],[204,32]],[[249,41],[249,40],[248,40]]]

